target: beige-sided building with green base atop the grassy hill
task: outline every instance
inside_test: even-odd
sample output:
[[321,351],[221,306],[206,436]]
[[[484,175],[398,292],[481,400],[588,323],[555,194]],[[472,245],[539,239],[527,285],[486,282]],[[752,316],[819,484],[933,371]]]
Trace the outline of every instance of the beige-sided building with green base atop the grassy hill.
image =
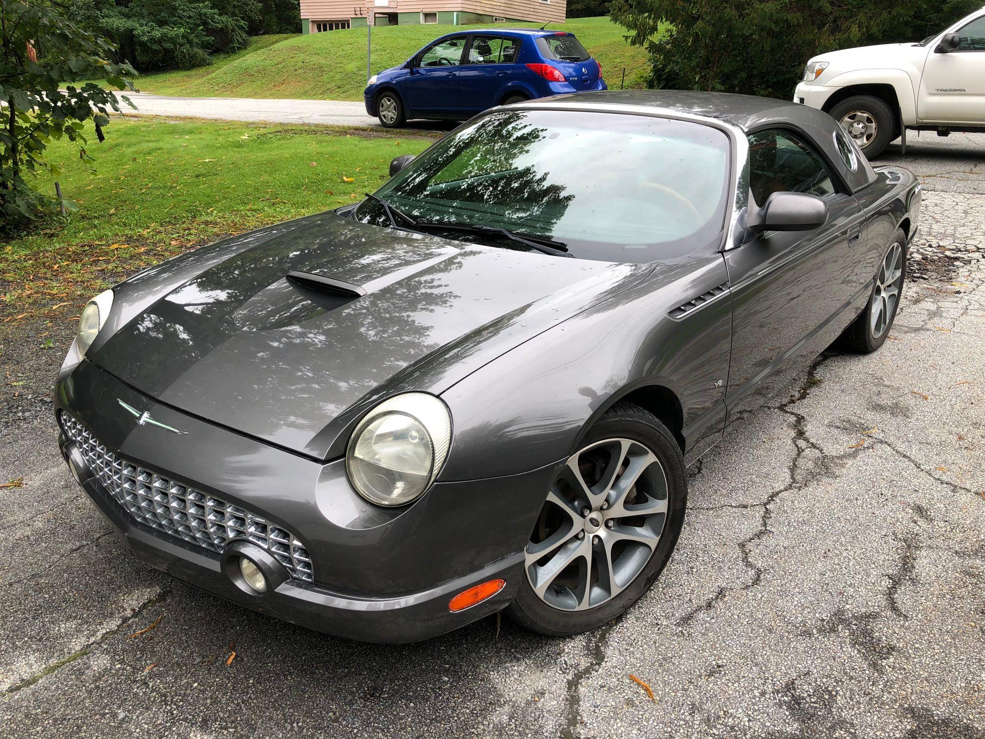
[[300,0],[301,33],[320,34],[366,24],[563,23],[567,0]]

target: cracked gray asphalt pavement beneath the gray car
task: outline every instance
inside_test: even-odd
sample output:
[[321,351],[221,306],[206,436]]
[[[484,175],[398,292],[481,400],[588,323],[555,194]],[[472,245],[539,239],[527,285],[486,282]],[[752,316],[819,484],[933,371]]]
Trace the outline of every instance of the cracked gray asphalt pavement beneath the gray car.
[[985,136],[887,160],[926,190],[890,340],[692,466],[663,576],[577,638],[359,644],[147,568],[59,458],[57,361],[4,337],[0,734],[985,736]]

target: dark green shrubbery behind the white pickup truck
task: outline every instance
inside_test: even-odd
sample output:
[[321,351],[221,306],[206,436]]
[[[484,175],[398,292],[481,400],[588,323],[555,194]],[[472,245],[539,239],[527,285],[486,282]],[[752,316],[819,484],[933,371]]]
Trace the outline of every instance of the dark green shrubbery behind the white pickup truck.
[[[658,88],[788,98],[822,51],[917,41],[981,0],[613,0],[612,18],[646,46]],[[658,24],[670,24],[656,38]],[[655,39],[654,39],[655,38]]]

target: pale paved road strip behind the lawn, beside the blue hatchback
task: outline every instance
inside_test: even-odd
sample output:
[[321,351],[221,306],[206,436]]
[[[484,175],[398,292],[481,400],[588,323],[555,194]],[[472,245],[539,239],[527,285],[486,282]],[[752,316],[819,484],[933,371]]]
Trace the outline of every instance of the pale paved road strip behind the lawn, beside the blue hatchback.
[[[117,97],[122,94],[117,93]],[[361,102],[255,100],[251,98],[170,98],[149,93],[127,93],[137,106],[121,102],[129,114],[181,115],[221,120],[250,120],[271,123],[308,123],[333,126],[380,126],[377,118],[366,114]],[[441,121],[411,121],[411,128],[447,129]]]

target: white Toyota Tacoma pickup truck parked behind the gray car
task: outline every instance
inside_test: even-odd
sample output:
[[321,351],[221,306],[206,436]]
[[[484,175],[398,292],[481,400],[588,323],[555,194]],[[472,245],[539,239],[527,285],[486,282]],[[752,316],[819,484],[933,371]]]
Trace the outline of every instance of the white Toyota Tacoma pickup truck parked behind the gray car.
[[906,129],[985,132],[985,8],[919,43],[813,57],[794,101],[838,120],[869,159]]

